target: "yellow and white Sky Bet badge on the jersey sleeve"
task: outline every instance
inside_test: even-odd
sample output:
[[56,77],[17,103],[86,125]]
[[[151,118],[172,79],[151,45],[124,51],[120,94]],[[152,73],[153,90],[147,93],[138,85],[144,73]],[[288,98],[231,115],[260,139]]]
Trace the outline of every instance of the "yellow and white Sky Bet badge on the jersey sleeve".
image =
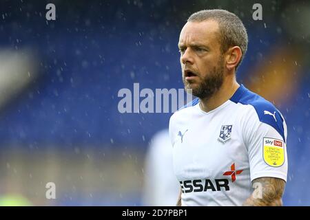
[[285,162],[285,143],[282,140],[264,137],[263,146],[262,153],[266,164],[273,167],[282,166]]

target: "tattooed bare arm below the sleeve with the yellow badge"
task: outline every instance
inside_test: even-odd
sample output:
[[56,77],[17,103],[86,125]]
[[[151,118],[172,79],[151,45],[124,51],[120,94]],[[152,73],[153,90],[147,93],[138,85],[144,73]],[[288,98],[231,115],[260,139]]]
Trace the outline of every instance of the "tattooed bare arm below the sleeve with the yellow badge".
[[260,177],[252,184],[256,188],[243,206],[282,206],[285,181],[275,177]]

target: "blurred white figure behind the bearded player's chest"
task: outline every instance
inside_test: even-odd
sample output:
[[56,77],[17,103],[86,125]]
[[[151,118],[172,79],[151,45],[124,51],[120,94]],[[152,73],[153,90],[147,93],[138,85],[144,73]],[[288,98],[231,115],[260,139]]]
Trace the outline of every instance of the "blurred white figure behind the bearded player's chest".
[[143,206],[174,206],[178,181],[172,164],[172,146],[168,129],[159,131],[145,157]]

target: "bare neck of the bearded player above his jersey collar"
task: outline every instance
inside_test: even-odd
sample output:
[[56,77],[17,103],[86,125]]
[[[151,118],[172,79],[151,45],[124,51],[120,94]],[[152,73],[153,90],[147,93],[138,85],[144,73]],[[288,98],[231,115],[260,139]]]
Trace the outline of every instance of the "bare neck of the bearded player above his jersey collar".
[[229,98],[234,95],[239,87],[240,85],[237,83],[236,78],[225,78],[223,85],[220,87],[220,89],[218,89],[218,91],[216,91],[213,96],[211,96],[211,98],[208,98],[207,100],[199,98],[200,109],[205,112],[216,109],[221,104],[229,100]]

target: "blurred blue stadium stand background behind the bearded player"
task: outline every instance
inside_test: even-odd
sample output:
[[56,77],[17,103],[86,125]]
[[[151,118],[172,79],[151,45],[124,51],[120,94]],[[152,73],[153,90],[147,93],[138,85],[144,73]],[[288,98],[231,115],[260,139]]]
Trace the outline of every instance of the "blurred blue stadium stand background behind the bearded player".
[[[46,21],[47,3],[56,5],[56,21]],[[252,19],[254,3],[262,4],[262,21]],[[309,1],[0,5],[0,204],[143,205],[145,155],[171,113],[121,114],[118,90],[134,83],[183,88],[180,29],[192,12],[223,8],[238,14],[249,34],[238,81],[287,121],[283,201],[310,205]],[[50,181],[56,199],[49,200]]]

